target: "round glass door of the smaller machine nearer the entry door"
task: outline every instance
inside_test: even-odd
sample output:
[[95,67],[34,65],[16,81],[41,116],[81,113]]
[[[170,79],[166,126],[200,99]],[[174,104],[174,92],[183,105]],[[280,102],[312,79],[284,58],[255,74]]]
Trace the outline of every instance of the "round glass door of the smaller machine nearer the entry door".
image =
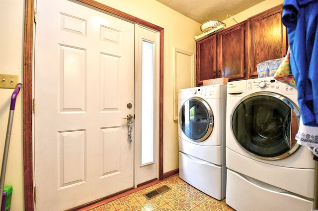
[[183,133],[194,142],[206,140],[213,130],[213,112],[202,98],[193,97],[180,108],[179,124]]

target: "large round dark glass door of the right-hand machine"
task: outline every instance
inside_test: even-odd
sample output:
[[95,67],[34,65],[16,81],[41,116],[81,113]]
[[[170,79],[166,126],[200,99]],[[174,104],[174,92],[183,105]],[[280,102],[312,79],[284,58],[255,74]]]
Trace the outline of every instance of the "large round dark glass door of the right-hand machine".
[[275,93],[246,96],[232,113],[232,131],[244,150],[262,159],[286,158],[297,150],[300,110]]

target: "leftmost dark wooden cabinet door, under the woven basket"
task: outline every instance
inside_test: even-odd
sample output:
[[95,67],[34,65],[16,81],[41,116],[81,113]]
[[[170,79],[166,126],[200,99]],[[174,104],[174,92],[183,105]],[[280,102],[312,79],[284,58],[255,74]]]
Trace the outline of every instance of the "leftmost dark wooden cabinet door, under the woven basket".
[[197,86],[203,80],[216,78],[217,70],[217,36],[213,35],[197,42]]

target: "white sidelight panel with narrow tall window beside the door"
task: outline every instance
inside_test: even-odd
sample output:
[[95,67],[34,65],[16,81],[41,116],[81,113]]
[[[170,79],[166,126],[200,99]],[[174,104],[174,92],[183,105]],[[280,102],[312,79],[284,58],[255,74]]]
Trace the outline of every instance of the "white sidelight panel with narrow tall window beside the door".
[[159,32],[136,25],[135,186],[158,178]]

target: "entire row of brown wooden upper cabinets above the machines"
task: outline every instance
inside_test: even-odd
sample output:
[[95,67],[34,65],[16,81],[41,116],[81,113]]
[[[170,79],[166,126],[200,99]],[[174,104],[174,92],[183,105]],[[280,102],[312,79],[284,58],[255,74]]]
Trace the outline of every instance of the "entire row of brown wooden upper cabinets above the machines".
[[256,78],[258,63],[284,57],[288,41],[281,17],[279,5],[197,42],[197,86],[218,77]]

